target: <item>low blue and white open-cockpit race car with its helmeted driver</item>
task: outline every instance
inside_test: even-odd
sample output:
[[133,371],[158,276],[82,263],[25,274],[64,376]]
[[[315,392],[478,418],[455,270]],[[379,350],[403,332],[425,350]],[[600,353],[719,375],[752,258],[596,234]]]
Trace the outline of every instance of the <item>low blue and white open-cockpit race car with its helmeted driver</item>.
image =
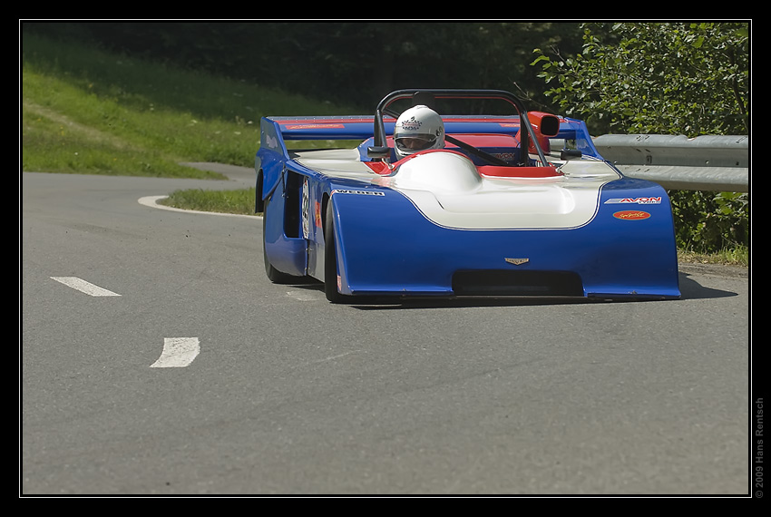
[[315,278],[346,303],[680,296],[666,191],[603,160],[584,122],[526,112],[512,93],[400,90],[374,117],[266,117],[260,132],[274,282]]

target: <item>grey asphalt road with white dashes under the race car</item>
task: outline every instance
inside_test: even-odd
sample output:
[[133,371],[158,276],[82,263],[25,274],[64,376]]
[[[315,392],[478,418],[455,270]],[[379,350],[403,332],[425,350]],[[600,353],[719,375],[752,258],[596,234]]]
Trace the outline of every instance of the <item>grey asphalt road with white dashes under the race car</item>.
[[746,269],[681,265],[677,301],[332,305],[268,281],[259,219],[139,202],[229,172],[23,174],[23,496],[749,493]]

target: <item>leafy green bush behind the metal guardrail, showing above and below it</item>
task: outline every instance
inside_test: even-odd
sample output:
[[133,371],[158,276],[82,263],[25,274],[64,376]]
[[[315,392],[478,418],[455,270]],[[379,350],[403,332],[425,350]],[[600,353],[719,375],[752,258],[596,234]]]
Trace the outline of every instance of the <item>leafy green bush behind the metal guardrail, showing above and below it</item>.
[[[580,54],[533,65],[568,115],[606,132],[749,134],[747,23],[584,24]],[[670,192],[678,246],[748,246],[747,194]]]

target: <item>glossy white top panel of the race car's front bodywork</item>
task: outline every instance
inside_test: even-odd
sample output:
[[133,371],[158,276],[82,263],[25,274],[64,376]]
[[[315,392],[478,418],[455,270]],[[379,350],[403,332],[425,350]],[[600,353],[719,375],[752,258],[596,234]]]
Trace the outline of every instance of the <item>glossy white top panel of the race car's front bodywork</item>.
[[560,176],[482,176],[457,152],[430,152],[381,176],[356,150],[298,153],[298,162],[334,178],[360,179],[401,192],[426,219],[454,229],[570,229],[597,213],[600,188],[620,174],[594,159],[557,162]]

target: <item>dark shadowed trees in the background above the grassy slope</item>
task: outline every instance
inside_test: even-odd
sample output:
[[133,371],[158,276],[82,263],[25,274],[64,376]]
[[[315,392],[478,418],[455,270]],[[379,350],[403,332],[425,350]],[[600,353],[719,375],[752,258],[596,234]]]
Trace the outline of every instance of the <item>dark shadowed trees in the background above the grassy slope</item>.
[[497,88],[540,108],[536,45],[577,51],[578,23],[35,22],[24,30],[371,111],[400,88]]

